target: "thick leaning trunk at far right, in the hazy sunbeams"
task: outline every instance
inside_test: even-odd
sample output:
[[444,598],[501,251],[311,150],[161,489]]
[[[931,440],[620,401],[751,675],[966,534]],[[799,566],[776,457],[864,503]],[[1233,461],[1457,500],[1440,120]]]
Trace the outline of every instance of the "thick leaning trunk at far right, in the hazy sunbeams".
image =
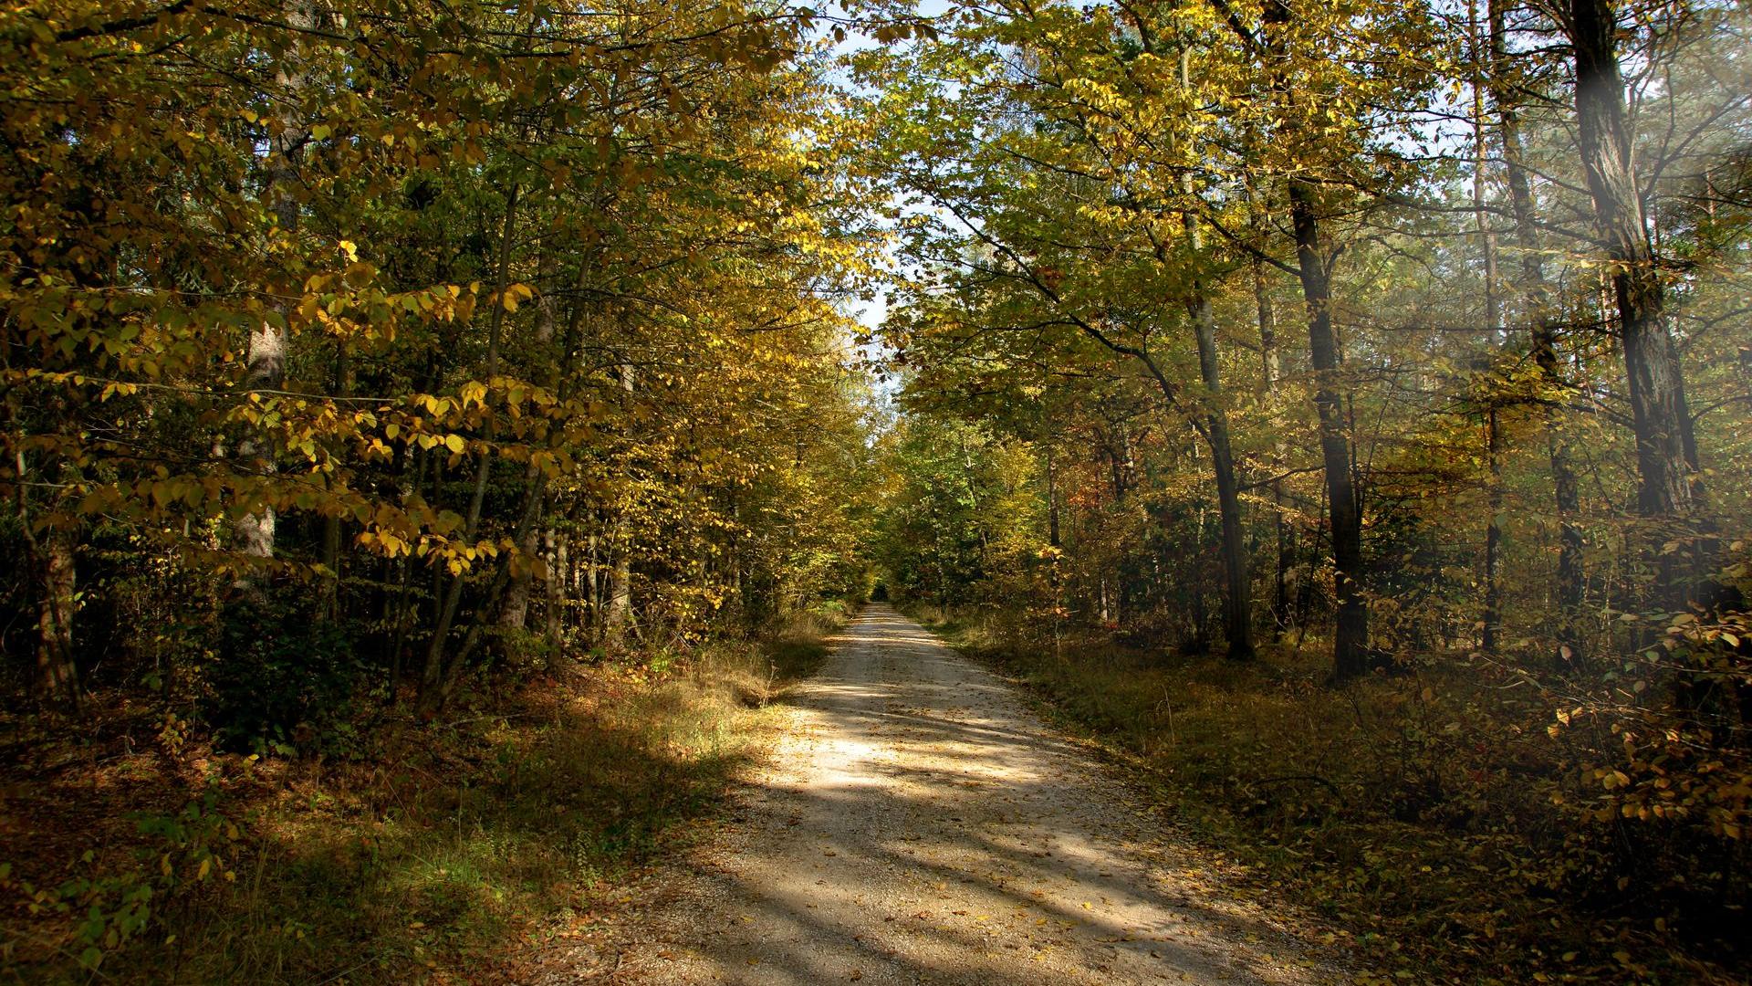
[[[1619,72],[1619,21],[1612,0],[1570,0],[1565,25],[1575,51],[1577,142],[1594,230],[1612,261],[1624,372],[1636,432],[1636,511],[1654,521],[1652,549],[1691,533],[1696,512],[1696,440],[1685,409],[1685,382],[1666,319],[1666,289],[1656,268],[1631,160],[1631,126]],[[1691,591],[1673,554],[1661,553],[1657,604],[1680,609]]]

